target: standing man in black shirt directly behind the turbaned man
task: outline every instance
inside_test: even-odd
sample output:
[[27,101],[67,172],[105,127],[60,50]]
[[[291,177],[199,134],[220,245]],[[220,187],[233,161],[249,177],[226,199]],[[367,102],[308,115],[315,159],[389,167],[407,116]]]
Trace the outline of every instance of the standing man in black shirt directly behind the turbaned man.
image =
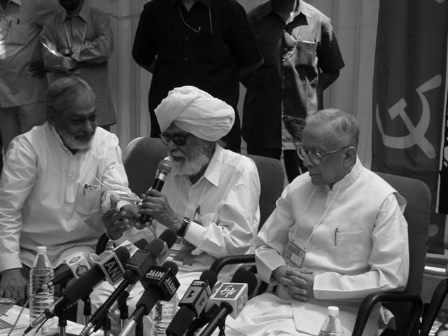
[[132,56],[153,73],[149,90],[151,137],[160,127],[154,109],[169,90],[193,85],[235,110],[223,141],[239,152],[239,78],[262,64],[246,12],[237,0],[151,0],[144,6]]

